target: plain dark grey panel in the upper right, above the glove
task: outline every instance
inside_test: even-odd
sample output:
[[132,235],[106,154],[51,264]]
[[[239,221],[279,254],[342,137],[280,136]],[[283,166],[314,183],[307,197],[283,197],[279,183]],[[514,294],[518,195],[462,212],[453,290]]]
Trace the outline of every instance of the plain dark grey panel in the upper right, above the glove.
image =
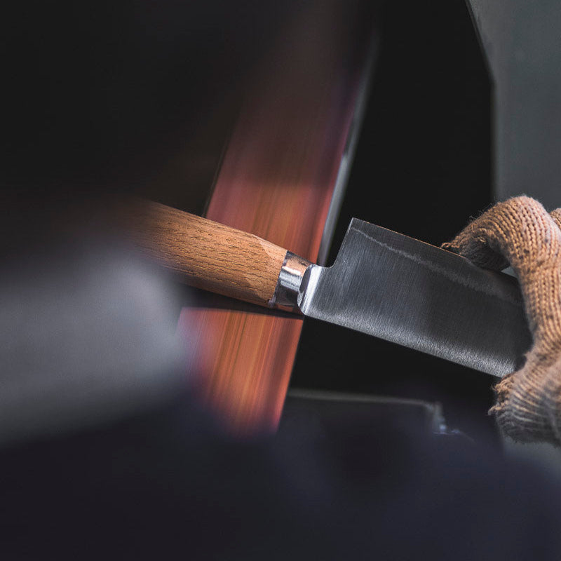
[[493,88],[495,198],[560,205],[561,2],[467,0]]

